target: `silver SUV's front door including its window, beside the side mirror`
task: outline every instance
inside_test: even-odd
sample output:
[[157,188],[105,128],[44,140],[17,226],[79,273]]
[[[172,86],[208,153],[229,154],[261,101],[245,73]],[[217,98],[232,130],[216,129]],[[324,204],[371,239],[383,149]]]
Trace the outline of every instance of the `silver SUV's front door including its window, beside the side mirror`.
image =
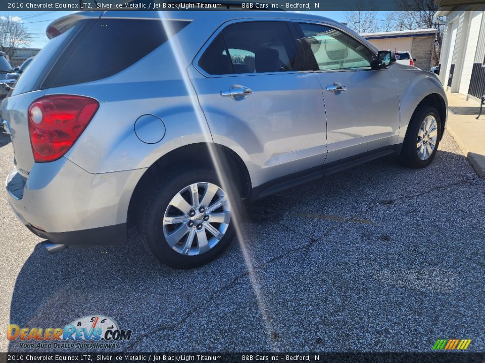
[[295,22],[309,66],[322,86],[327,115],[325,163],[392,149],[400,112],[390,69],[372,70],[367,45],[330,25]]

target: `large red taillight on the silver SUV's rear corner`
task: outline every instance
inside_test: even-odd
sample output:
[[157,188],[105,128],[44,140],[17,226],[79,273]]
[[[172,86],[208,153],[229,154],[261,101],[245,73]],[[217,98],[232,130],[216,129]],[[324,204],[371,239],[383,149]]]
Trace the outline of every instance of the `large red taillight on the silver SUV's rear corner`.
[[100,104],[82,96],[53,95],[29,107],[29,135],[36,162],[54,161],[74,145]]

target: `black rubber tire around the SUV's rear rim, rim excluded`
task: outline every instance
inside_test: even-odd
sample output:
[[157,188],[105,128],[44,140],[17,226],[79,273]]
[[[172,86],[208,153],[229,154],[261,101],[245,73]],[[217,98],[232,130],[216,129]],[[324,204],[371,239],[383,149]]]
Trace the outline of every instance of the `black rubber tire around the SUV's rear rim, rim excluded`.
[[[227,191],[231,206],[231,220],[223,237],[214,247],[205,253],[188,256],[180,254],[168,245],[163,232],[165,211],[172,198],[180,190],[194,183],[212,183],[221,187],[216,172],[210,168],[188,165],[172,170],[155,183],[147,202],[142,207],[138,222],[138,230],[144,248],[160,262],[173,268],[189,269],[209,263],[229,246],[235,234],[233,219],[239,208],[240,196],[236,195],[231,198],[228,195],[230,191]],[[232,188],[233,184],[230,184],[229,188]],[[233,188],[232,193],[237,193],[236,188]]]

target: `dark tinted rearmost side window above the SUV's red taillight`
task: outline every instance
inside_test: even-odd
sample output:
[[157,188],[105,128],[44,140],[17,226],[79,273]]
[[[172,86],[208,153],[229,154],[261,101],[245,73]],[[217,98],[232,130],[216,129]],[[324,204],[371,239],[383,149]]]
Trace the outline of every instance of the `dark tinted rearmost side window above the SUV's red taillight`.
[[[189,23],[169,22],[173,34]],[[96,19],[83,23],[83,28],[63,51],[41,88],[112,76],[168,39],[160,20]]]

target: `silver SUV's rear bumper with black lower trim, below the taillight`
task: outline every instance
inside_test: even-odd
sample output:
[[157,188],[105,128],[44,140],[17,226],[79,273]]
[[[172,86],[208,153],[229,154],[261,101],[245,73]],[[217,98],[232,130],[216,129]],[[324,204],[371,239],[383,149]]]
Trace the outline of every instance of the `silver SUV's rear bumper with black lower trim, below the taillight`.
[[144,169],[91,174],[67,158],[6,180],[12,209],[33,233],[63,245],[126,243],[128,205]]

